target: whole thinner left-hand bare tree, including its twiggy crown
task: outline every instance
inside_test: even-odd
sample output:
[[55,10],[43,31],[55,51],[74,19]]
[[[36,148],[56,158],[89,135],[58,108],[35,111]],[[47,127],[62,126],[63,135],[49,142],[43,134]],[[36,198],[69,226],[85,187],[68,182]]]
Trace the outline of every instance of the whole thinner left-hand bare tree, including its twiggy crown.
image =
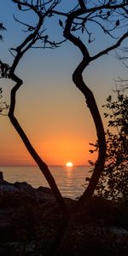
[[15,86],[12,88],[10,95],[10,106],[8,114],[9,119],[12,125],[15,127],[15,130],[18,132],[23,143],[25,144],[28,152],[32,155],[32,158],[38,164],[38,167],[40,168],[41,172],[44,173],[44,177],[49,183],[49,187],[52,189],[56,200],[61,206],[62,212],[67,212],[66,202],[61,196],[61,192],[55,183],[54,177],[49,172],[48,166],[46,165],[46,163],[44,163],[44,161],[40,158],[36,150],[32,147],[32,143],[29,141],[25,131],[22,129],[19,121],[15,117],[16,93],[20,89],[20,86],[23,84],[23,80],[20,79],[15,73],[16,67],[18,66],[20,59],[23,57],[23,55],[25,55],[26,52],[32,47],[36,47],[35,44],[37,42],[41,42],[41,48],[55,48],[61,44],[61,42],[55,43],[50,41],[48,35],[45,34],[45,29],[43,28],[45,18],[51,15],[52,10],[58,3],[60,3],[60,0],[13,0],[13,2],[17,4],[17,7],[18,9],[20,9],[20,11],[31,10],[35,15],[37,15],[38,24],[36,24],[35,26],[31,26],[30,24],[24,23],[15,18],[15,21],[20,22],[22,25],[26,26],[26,38],[17,48],[10,49],[11,54],[14,56],[14,61],[11,67],[9,67],[8,64],[3,63],[3,61],[1,61],[0,63],[1,77],[11,79],[15,82]]

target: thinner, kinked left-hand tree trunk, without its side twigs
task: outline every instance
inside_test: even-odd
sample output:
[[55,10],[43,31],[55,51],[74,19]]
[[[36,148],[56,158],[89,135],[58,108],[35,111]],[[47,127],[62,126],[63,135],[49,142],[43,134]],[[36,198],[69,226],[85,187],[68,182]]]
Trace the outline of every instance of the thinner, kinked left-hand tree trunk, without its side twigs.
[[[14,2],[17,3],[16,0]],[[51,1],[49,1],[49,3],[50,2]],[[54,2],[55,5],[58,2],[59,2],[58,0],[55,1]],[[22,4],[23,2],[18,1],[18,3]],[[26,2],[23,3],[23,5],[26,6]],[[53,7],[53,4],[51,4],[51,6]],[[26,136],[25,131],[23,131],[22,127],[20,126],[20,123],[15,118],[16,93],[20,89],[21,84],[23,84],[23,81],[15,75],[15,69],[16,69],[20,59],[22,58],[22,56],[26,53],[26,51],[28,49],[31,49],[32,45],[35,44],[35,42],[38,40],[38,32],[39,32],[41,26],[43,25],[44,18],[47,17],[47,15],[50,13],[51,6],[45,12],[44,15],[42,15],[42,14],[40,15],[36,12],[38,14],[38,25],[36,26],[35,31],[32,32],[30,35],[28,35],[25,38],[25,40],[20,44],[20,46],[15,49],[17,54],[15,56],[15,60],[12,64],[12,67],[10,67],[10,69],[9,69],[9,73],[7,76],[9,79],[12,79],[16,83],[15,86],[13,87],[13,89],[11,90],[9,119],[10,119],[10,122],[12,123],[12,125],[14,125],[15,130],[18,132],[21,140],[25,144],[26,149],[32,155],[32,158],[38,164],[38,167],[40,168],[41,172],[43,172],[44,177],[46,178],[47,182],[49,183],[49,187],[52,189],[53,194],[55,195],[56,201],[58,202],[58,204],[61,207],[62,212],[67,213],[68,212],[67,204],[64,201],[64,199],[62,198],[61,192],[55,183],[54,177],[52,177],[51,173],[49,172],[48,166],[44,163],[44,161],[40,158],[38,153],[32,147],[32,143],[29,141],[28,137]],[[33,7],[32,7],[32,10],[35,11],[35,8],[33,9]]]

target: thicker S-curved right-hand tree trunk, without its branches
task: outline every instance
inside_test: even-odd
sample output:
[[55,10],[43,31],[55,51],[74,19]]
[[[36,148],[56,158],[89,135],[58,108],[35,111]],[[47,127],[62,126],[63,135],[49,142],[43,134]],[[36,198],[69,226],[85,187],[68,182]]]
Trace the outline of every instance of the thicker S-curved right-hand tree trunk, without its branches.
[[[79,206],[83,206],[84,204],[86,204],[87,201],[90,200],[91,196],[94,193],[94,190],[96,189],[96,185],[103,171],[104,163],[106,159],[106,140],[105,140],[104,128],[102,125],[102,118],[97,108],[95,97],[93,96],[92,91],[87,87],[87,85],[84,84],[84,80],[82,76],[85,67],[87,67],[90,64],[90,61],[92,61],[92,59],[89,55],[88,49],[85,47],[83,42],[79,38],[76,38],[75,36],[73,36],[73,34],[71,33],[71,27],[72,27],[73,19],[76,13],[77,11],[74,12],[74,14],[72,13],[71,15],[68,15],[67,23],[64,29],[64,37],[70,40],[74,45],[79,47],[83,55],[83,60],[80,62],[79,66],[76,68],[76,70],[73,73],[73,82],[74,84],[76,84],[79,90],[83,93],[86,99],[87,107],[90,109],[92,119],[94,120],[94,123],[96,126],[96,134],[97,134],[98,145],[99,145],[99,152],[98,152],[98,158],[96,160],[96,166],[90,178],[90,183],[87,189],[85,189],[84,194],[81,195],[81,197],[79,198],[79,201],[76,206],[76,207],[79,207]],[[78,14],[79,14],[79,11],[78,11]]]

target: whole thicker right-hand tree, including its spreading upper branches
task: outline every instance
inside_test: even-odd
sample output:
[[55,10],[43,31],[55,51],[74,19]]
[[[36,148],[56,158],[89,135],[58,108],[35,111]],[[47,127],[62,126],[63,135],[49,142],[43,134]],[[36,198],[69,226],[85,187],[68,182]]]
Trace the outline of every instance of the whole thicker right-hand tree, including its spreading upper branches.
[[[102,125],[101,115],[96,105],[95,97],[92,91],[84,83],[83,72],[86,67],[90,65],[91,61],[95,61],[102,55],[108,54],[109,51],[116,49],[122,43],[122,41],[128,37],[128,32],[125,26],[125,30],[120,32],[117,36],[117,30],[121,26],[122,20],[126,19],[128,13],[128,4],[125,1],[84,1],[78,0],[77,5],[74,6],[70,12],[62,13],[60,11],[54,11],[55,14],[66,17],[65,24],[60,20],[60,26],[63,27],[63,35],[67,40],[77,46],[82,54],[82,61],[73,73],[73,82],[84,94],[88,108],[94,123],[96,125],[96,134],[98,139],[98,158],[94,172],[90,178],[90,183],[85,189],[84,194],[79,198],[78,205],[83,206],[90,200],[91,196],[96,189],[96,184],[104,169],[104,163],[106,159],[106,141],[105,133]],[[93,33],[90,32],[90,23],[93,23],[95,28],[102,29],[102,32],[110,37],[110,46],[101,49],[96,55],[90,55],[90,47],[95,38]],[[88,42],[84,43],[79,36],[79,31],[85,33]],[[113,38],[116,43],[113,40]]]

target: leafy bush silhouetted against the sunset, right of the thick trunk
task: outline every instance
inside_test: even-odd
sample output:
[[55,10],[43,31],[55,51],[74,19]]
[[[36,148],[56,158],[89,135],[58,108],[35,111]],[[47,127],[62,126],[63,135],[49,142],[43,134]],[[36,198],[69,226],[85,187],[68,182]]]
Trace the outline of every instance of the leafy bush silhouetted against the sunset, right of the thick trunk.
[[[116,101],[108,96],[105,118],[109,118],[106,132],[107,159],[96,194],[113,201],[128,200],[128,96],[124,90],[116,90]],[[111,130],[111,131],[110,131]],[[91,144],[98,148],[98,143]]]

